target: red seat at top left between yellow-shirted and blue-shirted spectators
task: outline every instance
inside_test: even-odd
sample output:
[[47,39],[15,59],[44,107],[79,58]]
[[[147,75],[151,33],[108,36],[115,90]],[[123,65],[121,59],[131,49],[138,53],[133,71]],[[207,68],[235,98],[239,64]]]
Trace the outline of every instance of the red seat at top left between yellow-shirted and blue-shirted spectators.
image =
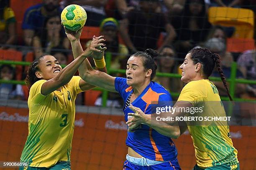
[[16,31],[18,35],[18,42],[23,42],[23,30],[21,25],[26,10],[28,7],[39,3],[42,3],[42,0],[26,0],[26,3],[24,3],[24,0],[10,0],[10,7],[13,9],[15,18],[17,20]]

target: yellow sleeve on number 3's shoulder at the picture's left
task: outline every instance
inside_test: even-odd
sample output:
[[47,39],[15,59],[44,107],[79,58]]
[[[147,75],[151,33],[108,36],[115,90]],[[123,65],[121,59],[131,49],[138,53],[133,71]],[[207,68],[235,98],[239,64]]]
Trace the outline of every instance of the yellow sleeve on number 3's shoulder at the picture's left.
[[46,80],[38,80],[30,88],[29,95],[34,105],[39,105],[47,97],[47,95],[42,95],[41,93],[41,87],[44,82],[46,82]]

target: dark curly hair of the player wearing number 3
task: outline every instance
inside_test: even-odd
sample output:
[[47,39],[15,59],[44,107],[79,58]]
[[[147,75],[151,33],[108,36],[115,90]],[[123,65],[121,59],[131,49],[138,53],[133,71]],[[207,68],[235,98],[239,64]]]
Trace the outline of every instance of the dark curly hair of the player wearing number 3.
[[44,56],[45,55],[41,55],[40,57],[36,58],[33,62],[31,62],[30,66],[28,67],[27,76],[25,79],[28,89],[30,89],[35,82],[41,80],[40,78],[36,77],[36,72],[39,71],[38,65]]

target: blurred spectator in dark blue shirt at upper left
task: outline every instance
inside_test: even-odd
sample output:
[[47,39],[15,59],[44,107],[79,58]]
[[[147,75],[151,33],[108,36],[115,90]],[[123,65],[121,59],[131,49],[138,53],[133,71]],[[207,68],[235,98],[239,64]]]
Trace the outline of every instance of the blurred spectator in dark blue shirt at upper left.
[[41,4],[29,7],[23,18],[22,29],[24,42],[26,45],[32,45],[34,34],[44,27],[45,19],[61,14],[59,0],[42,0]]

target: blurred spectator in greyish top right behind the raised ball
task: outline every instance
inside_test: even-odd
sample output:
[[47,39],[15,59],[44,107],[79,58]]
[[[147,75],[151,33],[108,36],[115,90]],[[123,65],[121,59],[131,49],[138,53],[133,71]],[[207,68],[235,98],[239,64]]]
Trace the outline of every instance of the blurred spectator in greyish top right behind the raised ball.
[[65,0],[66,5],[77,4],[82,6],[87,13],[87,26],[97,27],[100,21],[106,18],[105,5],[108,0]]

